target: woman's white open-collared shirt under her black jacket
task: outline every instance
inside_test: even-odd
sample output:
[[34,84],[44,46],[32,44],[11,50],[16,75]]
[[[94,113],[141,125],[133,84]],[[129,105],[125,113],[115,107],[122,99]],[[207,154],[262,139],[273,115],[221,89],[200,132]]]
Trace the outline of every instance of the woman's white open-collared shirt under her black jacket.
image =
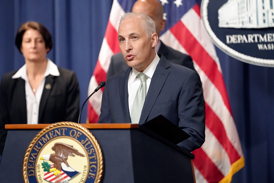
[[50,60],[47,59],[47,68],[44,77],[37,88],[36,95],[34,95],[31,89],[29,79],[26,73],[26,64],[24,64],[13,76],[12,79],[21,77],[25,80],[25,91],[26,91],[26,109],[27,109],[27,124],[38,124],[39,116],[39,105],[42,97],[46,77],[48,75],[60,76],[58,67]]

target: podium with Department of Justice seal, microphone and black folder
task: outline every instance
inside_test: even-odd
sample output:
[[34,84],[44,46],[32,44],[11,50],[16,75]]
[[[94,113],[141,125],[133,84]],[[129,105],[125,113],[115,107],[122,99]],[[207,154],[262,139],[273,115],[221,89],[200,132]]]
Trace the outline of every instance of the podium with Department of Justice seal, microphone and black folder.
[[79,121],[5,125],[1,182],[195,182],[194,155],[177,146],[189,135],[163,116],[143,125]]

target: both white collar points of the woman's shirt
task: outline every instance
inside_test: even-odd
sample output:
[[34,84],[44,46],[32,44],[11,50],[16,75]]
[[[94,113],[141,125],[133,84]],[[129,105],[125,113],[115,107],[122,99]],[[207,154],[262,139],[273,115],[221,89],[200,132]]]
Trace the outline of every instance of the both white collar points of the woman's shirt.
[[[55,65],[51,59],[47,59],[47,68],[44,74],[44,77],[47,77],[48,75],[52,76],[60,76],[59,70],[57,65]],[[21,77],[25,81],[28,81],[28,76],[26,74],[26,64],[24,64],[13,76],[12,79],[16,79]]]

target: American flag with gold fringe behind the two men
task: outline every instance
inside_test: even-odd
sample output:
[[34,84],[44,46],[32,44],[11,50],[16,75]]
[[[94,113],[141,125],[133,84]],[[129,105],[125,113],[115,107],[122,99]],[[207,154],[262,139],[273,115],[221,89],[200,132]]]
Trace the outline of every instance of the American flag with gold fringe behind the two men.
[[[132,9],[135,1],[114,0],[97,65],[90,79],[92,93],[100,81],[106,80],[111,56],[120,52],[118,23],[122,14]],[[160,40],[192,57],[201,77],[206,106],[206,141],[193,151],[197,183],[230,182],[233,174],[244,167],[244,155],[232,116],[219,58],[208,38],[195,0],[160,0],[166,27]],[[88,104],[88,122],[97,123],[103,89]]]

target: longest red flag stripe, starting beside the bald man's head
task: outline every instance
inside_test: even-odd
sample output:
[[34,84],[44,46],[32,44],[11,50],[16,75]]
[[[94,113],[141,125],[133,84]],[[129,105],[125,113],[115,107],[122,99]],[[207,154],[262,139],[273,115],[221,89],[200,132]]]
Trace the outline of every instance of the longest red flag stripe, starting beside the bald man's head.
[[199,44],[181,21],[178,21],[173,27],[171,27],[170,31],[220,91],[223,101],[232,115],[226,87],[223,81],[223,75],[219,72],[215,61],[211,56],[209,56],[206,50]]

